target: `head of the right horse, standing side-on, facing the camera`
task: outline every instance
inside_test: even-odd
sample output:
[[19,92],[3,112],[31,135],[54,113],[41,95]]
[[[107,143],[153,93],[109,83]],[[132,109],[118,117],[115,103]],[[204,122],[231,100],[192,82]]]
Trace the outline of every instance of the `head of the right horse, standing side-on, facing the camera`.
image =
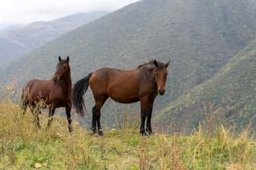
[[167,78],[167,70],[166,68],[169,66],[169,62],[167,63],[160,63],[154,60],[154,65],[156,66],[154,70],[154,76],[157,83],[157,92],[159,95],[164,95],[165,92],[165,84]]

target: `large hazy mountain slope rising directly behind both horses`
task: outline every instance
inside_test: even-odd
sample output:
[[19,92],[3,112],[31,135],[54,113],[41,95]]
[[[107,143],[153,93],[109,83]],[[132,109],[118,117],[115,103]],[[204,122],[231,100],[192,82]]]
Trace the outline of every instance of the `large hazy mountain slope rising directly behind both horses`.
[[[167,93],[154,105],[161,110],[214,77],[255,38],[255,9],[253,0],[139,1],[2,66],[1,85],[51,77],[60,55],[71,57],[73,82],[104,66],[132,69],[149,59],[171,59]],[[86,102],[91,107],[92,96]],[[109,125],[115,122],[113,105],[108,102],[102,111]],[[173,119],[164,115],[159,120]]]

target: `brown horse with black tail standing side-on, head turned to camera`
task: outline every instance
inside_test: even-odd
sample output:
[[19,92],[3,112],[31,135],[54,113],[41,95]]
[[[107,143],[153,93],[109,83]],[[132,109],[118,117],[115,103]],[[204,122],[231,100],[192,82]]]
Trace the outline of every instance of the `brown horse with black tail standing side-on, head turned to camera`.
[[159,95],[164,95],[167,77],[168,63],[150,61],[138,66],[134,70],[117,70],[113,68],[101,68],[90,73],[78,81],[72,91],[72,102],[76,112],[84,116],[84,99],[90,85],[95,106],[92,109],[92,131],[96,133],[96,123],[99,135],[102,134],[100,127],[100,109],[104,102],[110,97],[116,102],[131,104],[139,102],[141,104],[141,127],[140,133],[145,132],[145,120],[147,118],[147,132],[152,134],[151,116],[154,100]]

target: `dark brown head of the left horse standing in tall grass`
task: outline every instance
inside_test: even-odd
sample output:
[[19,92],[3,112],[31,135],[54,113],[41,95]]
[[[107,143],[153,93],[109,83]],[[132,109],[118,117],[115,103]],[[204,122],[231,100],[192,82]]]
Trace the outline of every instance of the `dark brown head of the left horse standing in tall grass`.
[[59,57],[59,63],[56,66],[56,72],[54,73],[52,80],[58,82],[63,75],[67,75],[68,73],[70,73],[69,57],[67,57],[67,59],[61,59],[61,57]]

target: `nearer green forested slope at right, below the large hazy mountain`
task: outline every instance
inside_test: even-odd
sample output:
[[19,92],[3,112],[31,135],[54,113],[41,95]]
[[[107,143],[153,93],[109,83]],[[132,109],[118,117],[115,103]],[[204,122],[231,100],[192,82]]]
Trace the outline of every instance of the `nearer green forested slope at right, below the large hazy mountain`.
[[[218,123],[237,128],[252,123],[256,127],[256,40],[230,59],[220,72],[178,98],[157,115],[157,121],[174,118],[180,127],[197,127],[205,120],[204,107],[212,104],[212,117]],[[160,120],[159,120],[160,119]],[[169,121],[169,122],[168,122]],[[165,121],[170,123],[173,120]]]

